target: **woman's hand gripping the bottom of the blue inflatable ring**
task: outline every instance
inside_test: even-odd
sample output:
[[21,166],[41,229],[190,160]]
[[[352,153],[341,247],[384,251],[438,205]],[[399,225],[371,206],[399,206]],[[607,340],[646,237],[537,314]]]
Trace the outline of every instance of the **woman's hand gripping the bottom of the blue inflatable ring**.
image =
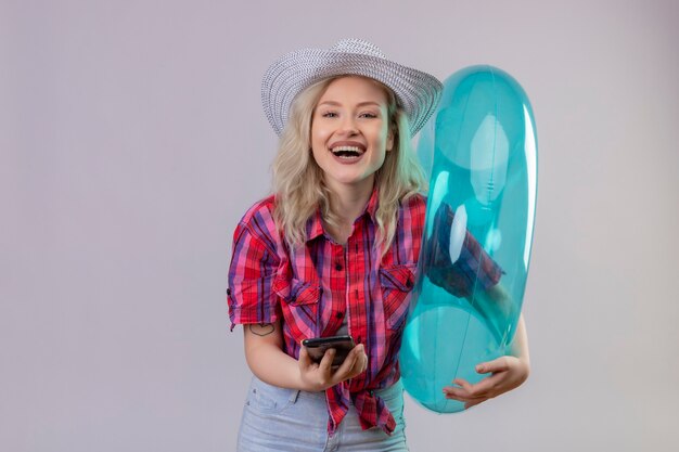
[[452,383],[458,386],[444,388],[446,398],[464,402],[466,410],[521,386],[528,378],[530,364],[528,360],[505,356],[476,365],[476,372],[490,373],[490,376],[475,385],[462,378],[456,378]]

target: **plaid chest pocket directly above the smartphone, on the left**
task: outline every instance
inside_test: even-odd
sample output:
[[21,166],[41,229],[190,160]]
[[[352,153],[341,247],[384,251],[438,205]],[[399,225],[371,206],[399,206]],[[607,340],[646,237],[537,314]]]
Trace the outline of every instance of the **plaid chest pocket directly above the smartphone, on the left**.
[[277,280],[273,290],[281,297],[283,317],[293,332],[309,337],[316,330],[321,286],[316,281]]

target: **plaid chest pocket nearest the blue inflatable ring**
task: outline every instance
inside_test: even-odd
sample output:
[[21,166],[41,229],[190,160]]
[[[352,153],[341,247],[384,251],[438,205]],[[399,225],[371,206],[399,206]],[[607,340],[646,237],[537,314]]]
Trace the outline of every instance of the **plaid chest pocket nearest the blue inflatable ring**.
[[380,269],[382,306],[389,330],[399,330],[408,315],[408,295],[415,284],[414,270],[415,266],[410,263]]

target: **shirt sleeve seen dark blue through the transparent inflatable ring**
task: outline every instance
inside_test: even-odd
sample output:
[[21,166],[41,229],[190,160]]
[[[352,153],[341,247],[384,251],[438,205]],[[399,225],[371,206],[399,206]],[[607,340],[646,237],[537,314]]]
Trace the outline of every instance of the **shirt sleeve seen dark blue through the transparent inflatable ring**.
[[[430,280],[456,297],[470,297],[474,289],[487,290],[498,284],[504,271],[465,230],[459,256],[450,256],[451,225],[454,215],[441,203],[434,217],[432,237],[427,241]],[[461,240],[461,238],[458,238]]]

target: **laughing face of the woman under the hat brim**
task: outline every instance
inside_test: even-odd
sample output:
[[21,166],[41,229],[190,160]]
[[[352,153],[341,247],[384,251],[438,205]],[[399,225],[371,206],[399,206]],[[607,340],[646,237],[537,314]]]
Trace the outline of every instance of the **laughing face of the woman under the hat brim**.
[[394,146],[388,124],[387,95],[377,82],[347,76],[328,86],[311,117],[311,150],[333,192],[372,189]]

